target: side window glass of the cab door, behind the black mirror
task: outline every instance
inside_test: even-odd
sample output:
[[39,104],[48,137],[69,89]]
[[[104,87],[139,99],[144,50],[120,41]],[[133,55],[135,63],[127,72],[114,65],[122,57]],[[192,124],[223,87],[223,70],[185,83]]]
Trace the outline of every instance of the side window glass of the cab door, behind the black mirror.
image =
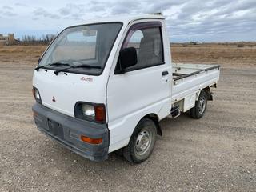
[[123,48],[135,47],[138,63],[130,69],[141,69],[163,63],[162,35],[160,27],[130,30]]

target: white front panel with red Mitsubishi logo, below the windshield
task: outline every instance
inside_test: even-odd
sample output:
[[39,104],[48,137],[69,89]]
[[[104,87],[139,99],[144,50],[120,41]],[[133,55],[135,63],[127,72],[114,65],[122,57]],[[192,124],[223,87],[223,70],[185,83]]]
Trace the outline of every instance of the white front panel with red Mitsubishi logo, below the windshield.
[[106,83],[103,75],[72,74],[54,70],[34,71],[33,86],[39,90],[42,105],[74,117],[76,102],[103,103],[106,106]]

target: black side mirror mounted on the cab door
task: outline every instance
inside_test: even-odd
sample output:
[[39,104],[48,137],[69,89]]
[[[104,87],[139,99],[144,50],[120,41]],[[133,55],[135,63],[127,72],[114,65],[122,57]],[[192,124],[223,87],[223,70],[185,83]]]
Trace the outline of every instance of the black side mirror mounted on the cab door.
[[119,70],[124,73],[127,67],[135,66],[137,64],[137,52],[134,47],[128,47],[119,52]]

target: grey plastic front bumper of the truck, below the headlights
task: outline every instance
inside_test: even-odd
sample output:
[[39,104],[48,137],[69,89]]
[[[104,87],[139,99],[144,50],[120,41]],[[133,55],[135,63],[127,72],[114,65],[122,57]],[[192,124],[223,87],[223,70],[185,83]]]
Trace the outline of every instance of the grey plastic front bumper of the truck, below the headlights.
[[[106,124],[72,118],[38,103],[34,104],[32,110],[38,130],[66,148],[95,162],[103,161],[108,157],[110,142]],[[89,138],[102,138],[103,141],[101,144],[89,144],[80,140],[81,135]]]

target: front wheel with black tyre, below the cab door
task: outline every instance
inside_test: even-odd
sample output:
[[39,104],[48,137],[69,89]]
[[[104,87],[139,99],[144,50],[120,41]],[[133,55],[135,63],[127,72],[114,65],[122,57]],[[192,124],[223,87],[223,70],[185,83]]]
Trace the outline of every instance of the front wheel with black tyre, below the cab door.
[[123,156],[129,162],[144,162],[154,149],[157,126],[150,118],[142,118],[130,137],[130,142],[123,150]]

